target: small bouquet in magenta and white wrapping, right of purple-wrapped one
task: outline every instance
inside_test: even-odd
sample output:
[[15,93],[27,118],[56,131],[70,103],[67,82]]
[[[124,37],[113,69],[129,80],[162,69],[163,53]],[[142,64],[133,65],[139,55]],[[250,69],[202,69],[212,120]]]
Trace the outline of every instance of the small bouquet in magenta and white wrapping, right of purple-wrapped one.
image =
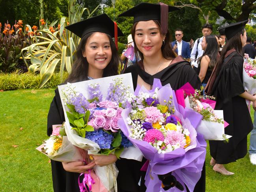
[[[176,91],[176,97],[179,97],[179,100],[183,99],[184,103],[181,104],[183,107],[194,110],[202,116],[202,121],[200,121],[196,131],[202,134],[205,140],[224,140],[228,142],[231,136],[224,133],[224,127],[228,126],[228,123],[223,119],[223,111],[214,110],[216,102],[212,99],[215,98],[201,95],[202,89],[194,89],[187,83],[179,89],[182,90],[182,94]],[[184,92],[185,97],[187,96],[185,100]]]

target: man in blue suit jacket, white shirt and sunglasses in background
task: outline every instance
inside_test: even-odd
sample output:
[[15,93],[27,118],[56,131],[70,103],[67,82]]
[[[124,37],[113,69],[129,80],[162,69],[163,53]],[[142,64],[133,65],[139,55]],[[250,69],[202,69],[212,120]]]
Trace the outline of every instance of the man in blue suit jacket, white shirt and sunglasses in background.
[[182,40],[183,31],[181,29],[175,30],[175,39],[176,41],[172,42],[172,49],[185,59],[190,58],[191,50],[189,48],[189,43]]

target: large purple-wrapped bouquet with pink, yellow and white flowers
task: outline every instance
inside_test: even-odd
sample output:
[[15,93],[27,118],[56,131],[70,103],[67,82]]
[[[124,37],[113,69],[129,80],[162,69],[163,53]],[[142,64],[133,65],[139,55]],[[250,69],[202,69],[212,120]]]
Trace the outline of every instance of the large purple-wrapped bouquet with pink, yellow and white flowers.
[[206,143],[202,137],[197,138],[189,119],[176,110],[178,103],[170,84],[162,87],[155,79],[153,91],[137,86],[129,101],[131,105],[121,114],[120,127],[149,160],[144,165],[146,191],[171,187],[180,191],[185,185],[193,191],[201,176]]

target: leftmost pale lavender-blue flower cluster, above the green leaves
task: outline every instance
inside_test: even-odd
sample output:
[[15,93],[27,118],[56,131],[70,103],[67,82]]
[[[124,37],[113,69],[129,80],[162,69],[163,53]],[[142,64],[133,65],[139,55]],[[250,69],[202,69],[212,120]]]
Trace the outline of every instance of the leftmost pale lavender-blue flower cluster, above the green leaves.
[[73,106],[75,106],[76,112],[84,114],[86,112],[86,109],[88,108],[89,102],[86,100],[82,93],[79,93],[79,95],[73,95],[73,97],[69,99],[67,104],[72,104]]

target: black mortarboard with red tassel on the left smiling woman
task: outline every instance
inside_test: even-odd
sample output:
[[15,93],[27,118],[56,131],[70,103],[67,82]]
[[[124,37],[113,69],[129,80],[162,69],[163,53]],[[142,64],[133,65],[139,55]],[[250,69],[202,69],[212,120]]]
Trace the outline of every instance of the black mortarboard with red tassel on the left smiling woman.
[[[105,13],[76,22],[66,26],[65,28],[80,38],[90,32],[102,32],[109,34],[112,38],[115,37],[114,22]],[[118,28],[118,37],[120,36],[123,36],[123,33],[121,32],[120,28]]]

